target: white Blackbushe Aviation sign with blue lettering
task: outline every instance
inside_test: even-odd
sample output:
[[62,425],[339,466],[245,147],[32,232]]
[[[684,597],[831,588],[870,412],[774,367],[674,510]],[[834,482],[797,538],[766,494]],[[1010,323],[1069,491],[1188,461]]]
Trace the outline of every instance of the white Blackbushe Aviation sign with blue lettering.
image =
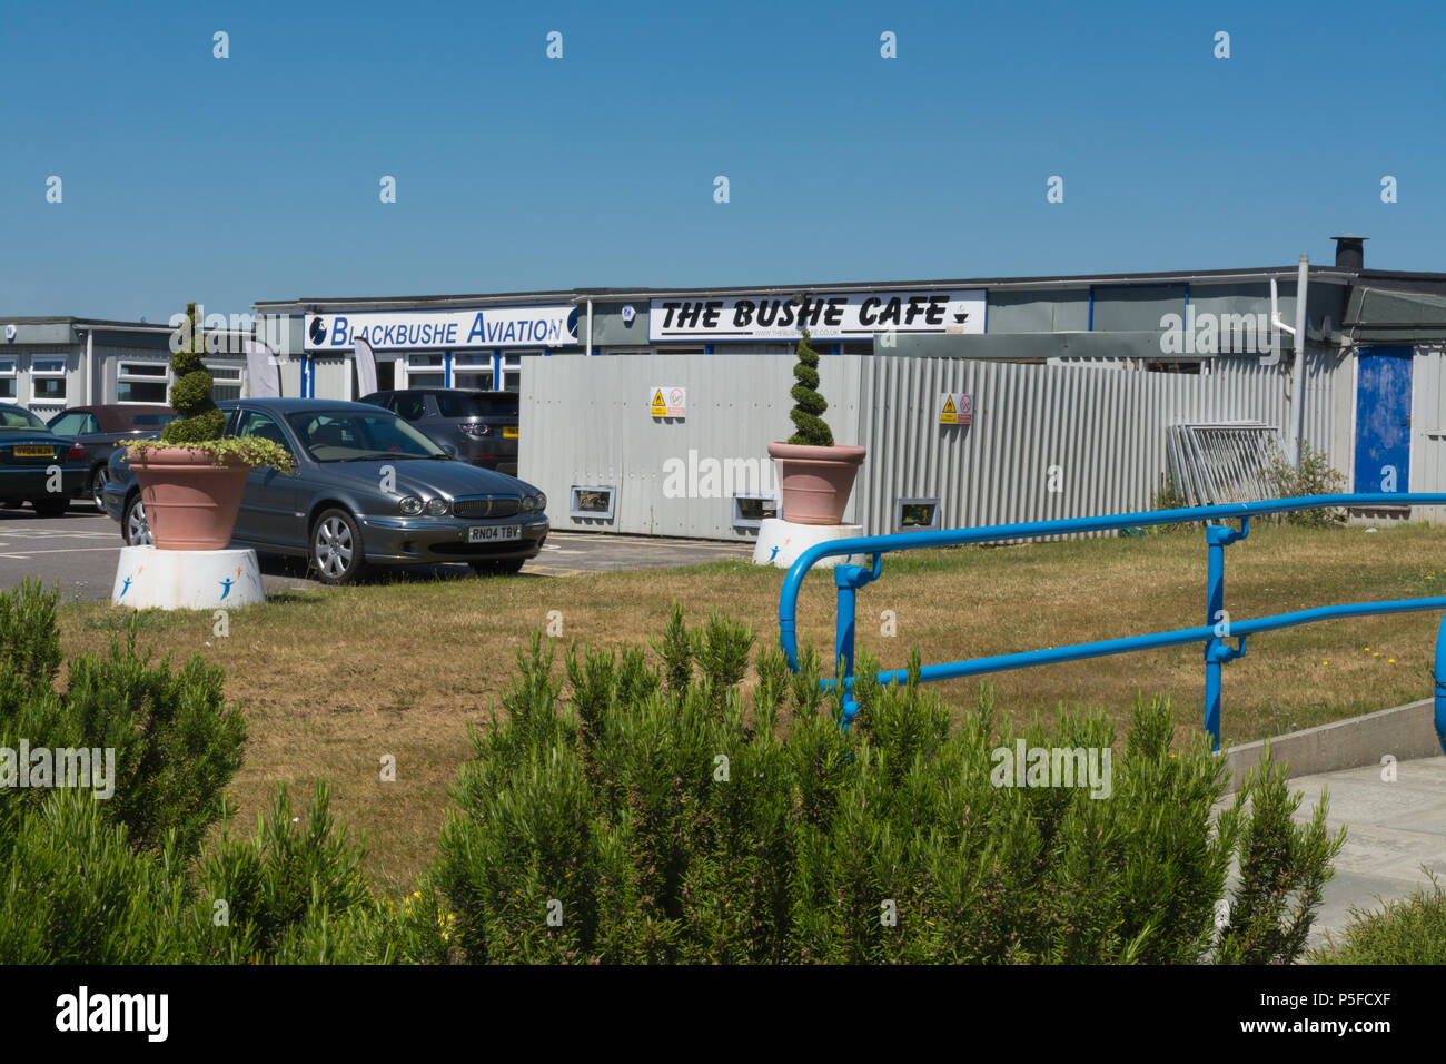
[[375,350],[567,347],[577,343],[577,307],[307,314],[307,350],[351,350],[357,336]]

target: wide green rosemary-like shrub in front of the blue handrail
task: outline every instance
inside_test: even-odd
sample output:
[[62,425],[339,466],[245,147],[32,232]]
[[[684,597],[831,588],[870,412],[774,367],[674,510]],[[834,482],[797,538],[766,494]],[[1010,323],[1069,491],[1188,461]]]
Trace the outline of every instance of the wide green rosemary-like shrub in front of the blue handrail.
[[[1015,734],[992,693],[957,728],[918,683],[837,696],[758,656],[714,615],[674,611],[649,669],[541,637],[508,718],[473,734],[437,886],[470,961],[1281,963],[1300,955],[1339,840],[1290,821],[1271,767],[1215,815],[1205,738],[1171,751],[1167,704],[1135,706],[1124,750],[1100,714]],[[564,696],[564,689],[567,695]],[[1112,753],[1112,790],[996,786],[995,751]],[[1103,757],[1103,754],[1100,754]],[[1299,802],[1299,798],[1294,799]],[[1232,861],[1241,880],[1218,929]],[[894,916],[894,919],[888,919]]]

